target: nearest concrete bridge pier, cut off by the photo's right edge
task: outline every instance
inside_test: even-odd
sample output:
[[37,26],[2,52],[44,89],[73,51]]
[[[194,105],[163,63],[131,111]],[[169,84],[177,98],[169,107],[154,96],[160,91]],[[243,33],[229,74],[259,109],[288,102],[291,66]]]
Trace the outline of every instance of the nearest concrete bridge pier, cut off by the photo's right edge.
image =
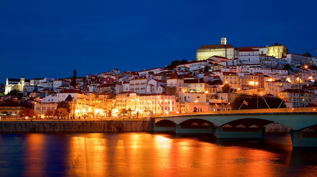
[[293,147],[317,147],[317,132],[290,130]]

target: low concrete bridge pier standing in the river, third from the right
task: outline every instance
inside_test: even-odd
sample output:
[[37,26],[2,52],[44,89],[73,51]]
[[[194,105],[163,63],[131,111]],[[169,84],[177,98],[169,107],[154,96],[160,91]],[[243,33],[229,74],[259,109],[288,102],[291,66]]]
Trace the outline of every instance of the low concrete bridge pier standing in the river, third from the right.
[[176,134],[213,134],[214,125],[175,125]]

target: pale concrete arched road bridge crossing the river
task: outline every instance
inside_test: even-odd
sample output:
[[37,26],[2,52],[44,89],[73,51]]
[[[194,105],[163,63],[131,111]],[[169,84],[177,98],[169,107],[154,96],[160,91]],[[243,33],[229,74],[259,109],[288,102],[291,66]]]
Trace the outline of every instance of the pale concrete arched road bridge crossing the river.
[[154,131],[216,133],[216,138],[264,138],[265,127],[291,128],[293,147],[317,147],[317,109],[279,108],[153,115]]

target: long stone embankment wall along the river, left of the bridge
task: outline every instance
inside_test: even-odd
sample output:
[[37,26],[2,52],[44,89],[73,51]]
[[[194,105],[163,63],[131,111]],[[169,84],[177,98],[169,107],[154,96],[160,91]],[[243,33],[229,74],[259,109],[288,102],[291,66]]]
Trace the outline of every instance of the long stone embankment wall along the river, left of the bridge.
[[149,121],[3,121],[0,132],[149,131]]

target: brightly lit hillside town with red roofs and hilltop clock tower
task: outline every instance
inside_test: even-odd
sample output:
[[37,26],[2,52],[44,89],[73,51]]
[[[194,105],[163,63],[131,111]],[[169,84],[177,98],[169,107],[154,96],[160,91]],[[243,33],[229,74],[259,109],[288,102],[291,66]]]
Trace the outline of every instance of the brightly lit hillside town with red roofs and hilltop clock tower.
[[[29,108],[44,117],[67,102],[68,118],[148,117],[231,110],[240,94],[281,98],[287,108],[317,107],[317,56],[314,50],[314,57],[306,54],[290,53],[279,43],[234,47],[223,37],[176,66],[113,69],[76,77],[75,84],[71,77],[9,76],[0,85],[0,112],[22,117],[19,112]],[[15,90],[18,94],[10,94]]]

